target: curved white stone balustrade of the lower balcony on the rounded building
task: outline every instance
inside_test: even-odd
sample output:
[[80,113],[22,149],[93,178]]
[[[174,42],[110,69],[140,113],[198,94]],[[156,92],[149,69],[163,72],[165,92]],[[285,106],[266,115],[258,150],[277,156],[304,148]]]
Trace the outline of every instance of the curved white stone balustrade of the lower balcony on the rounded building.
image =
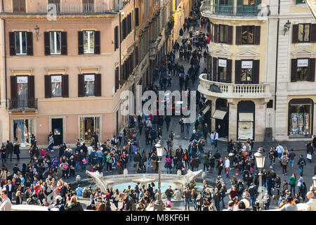
[[198,91],[204,95],[223,98],[269,98],[269,84],[230,84],[213,82],[206,74],[199,75]]

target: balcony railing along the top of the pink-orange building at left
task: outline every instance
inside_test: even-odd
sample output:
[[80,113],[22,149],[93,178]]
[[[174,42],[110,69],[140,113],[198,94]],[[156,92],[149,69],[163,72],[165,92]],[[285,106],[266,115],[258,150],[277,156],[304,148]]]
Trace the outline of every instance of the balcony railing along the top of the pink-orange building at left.
[[[54,6],[55,5],[55,6]],[[62,14],[100,14],[108,11],[119,10],[119,6],[116,8],[110,8],[105,3],[95,4],[38,4],[38,13],[56,13],[57,15]]]

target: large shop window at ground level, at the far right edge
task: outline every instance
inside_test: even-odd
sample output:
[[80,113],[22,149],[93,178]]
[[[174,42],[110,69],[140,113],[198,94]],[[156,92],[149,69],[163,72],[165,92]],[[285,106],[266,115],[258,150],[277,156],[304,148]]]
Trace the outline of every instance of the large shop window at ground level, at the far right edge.
[[312,136],[314,102],[310,98],[295,98],[289,101],[289,138],[309,138]]

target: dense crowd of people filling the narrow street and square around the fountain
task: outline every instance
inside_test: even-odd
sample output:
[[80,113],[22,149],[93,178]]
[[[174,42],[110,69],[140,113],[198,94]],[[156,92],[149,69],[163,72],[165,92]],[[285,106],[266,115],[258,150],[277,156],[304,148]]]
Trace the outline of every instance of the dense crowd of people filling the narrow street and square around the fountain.
[[[166,90],[172,85],[172,79],[178,77],[180,91],[190,91],[190,80],[192,84],[200,72],[199,62],[204,57],[206,61],[209,44],[209,34],[202,32],[202,28],[209,27],[209,19],[202,17],[199,12],[200,1],[192,6],[190,17],[185,18],[183,29],[180,30],[180,37],[187,32],[188,37],[183,37],[180,43],[173,43],[173,51],[164,56],[161,65],[154,70],[154,77],[159,79],[159,86],[150,84],[145,91],[152,90],[158,94],[160,90]],[[183,65],[176,62],[176,53],[179,54],[180,62],[190,63],[190,68],[185,75]],[[206,68],[204,68],[205,72]],[[183,87],[184,85],[184,87]],[[189,97],[190,99],[190,97]],[[203,181],[203,190],[195,188],[195,181],[187,184],[185,190],[180,193],[185,203],[185,210],[190,210],[193,205],[197,211],[220,211],[220,210],[252,210],[258,209],[258,186],[259,175],[254,157],[254,141],[248,139],[242,142],[240,139],[235,143],[228,141],[227,153],[220,153],[218,149],[218,133],[211,131],[210,113],[202,113],[204,98],[197,91],[197,110],[199,116],[191,131],[191,124],[185,123],[184,118],[179,120],[180,132],[190,134],[190,141],[187,146],[175,146],[173,143],[174,131],[169,132],[171,116],[166,115],[138,115],[130,118],[130,127],[137,127],[138,134],[142,135],[145,130],[145,146],[150,146],[147,153],[145,148],[141,148],[135,130],[119,131],[118,136],[113,136],[104,143],[98,140],[98,134],[93,135],[91,144],[86,146],[79,139],[72,149],[65,143],[58,146],[58,155],[51,158],[49,154],[53,151],[53,133],[48,135],[48,148],[37,147],[35,136],[31,136],[32,146],[29,148],[29,163],[18,164],[12,171],[6,169],[7,158],[12,160],[13,153],[20,159],[20,146],[18,143],[7,141],[1,146],[2,168],[0,172],[1,205],[0,210],[11,210],[11,203],[16,205],[40,205],[47,206],[48,210],[60,211],[81,211],[84,210],[78,198],[89,198],[90,203],[87,210],[110,211],[150,211],[154,210],[154,205],[158,199],[158,190],[154,183],[148,186],[135,187],[128,186],[124,191],[108,188],[105,193],[99,187],[73,188],[70,182],[65,182],[71,177],[75,177],[79,170],[86,169],[91,172],[112,172],[118,171],[123,174],[128,164],[132,163],[135,172],[145,173],[157,172],[156,144],[159,140],[165,139],[164,148],[164,168],[167,173],[177,173],[178,170],[184,174],[187,169],[197,171],[203,167],[203,171],[209,175],[216,174],[216,185],[211,187],[207,181]],[[190,104],[189,104],[190,105]],[[166,123],[166,130],[169,136],[163,137],[163,127]],[[266,192],[263,193],[264,209],[269,210],[270,204],[275,201],[279,210],[298,210],[296,204],[307,203],[310,210],[316,210],[315,189],[308,188],[303,178],[304,167],[311,162],[312,155],[316,151],[316,137],[313,137],[306,145],[308,157],[296,156],[293,149],[288,150],[281,143],[278,146],[265,150],[263,146],[259,149],[268,153],[270,169],[262,170],[262,185]],[[207,141],[210,140],[210,143]],[[211,146],[211,150],[206,151],[206,145]],[[288,166],[293,169],[294,164],[298,165],[298,172],[287,176]],[[275,172],[276,167],[282,167],[282,174]],[[222,178],[230,181],[225,184]],[[315,166],[316,174],[316,166]],[[237,179],[241,176],[241,179]],[[163,190],[166,198],[164,207],[173,209],[172,199],[179,190],[173,190],[171,186]],[[229,201],[225,203],[228,195]],[[119,201],[123,204],[119,207]]]

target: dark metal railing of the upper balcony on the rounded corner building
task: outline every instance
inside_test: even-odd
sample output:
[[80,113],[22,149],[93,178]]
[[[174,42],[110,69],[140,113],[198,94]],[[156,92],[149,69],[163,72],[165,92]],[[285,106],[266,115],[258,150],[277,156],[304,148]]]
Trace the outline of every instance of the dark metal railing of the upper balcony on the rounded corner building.
[[205,17],[216,16],[254,18],[270,15],[269,6],[219,6],[209,4],[204,1],[200,11]]

